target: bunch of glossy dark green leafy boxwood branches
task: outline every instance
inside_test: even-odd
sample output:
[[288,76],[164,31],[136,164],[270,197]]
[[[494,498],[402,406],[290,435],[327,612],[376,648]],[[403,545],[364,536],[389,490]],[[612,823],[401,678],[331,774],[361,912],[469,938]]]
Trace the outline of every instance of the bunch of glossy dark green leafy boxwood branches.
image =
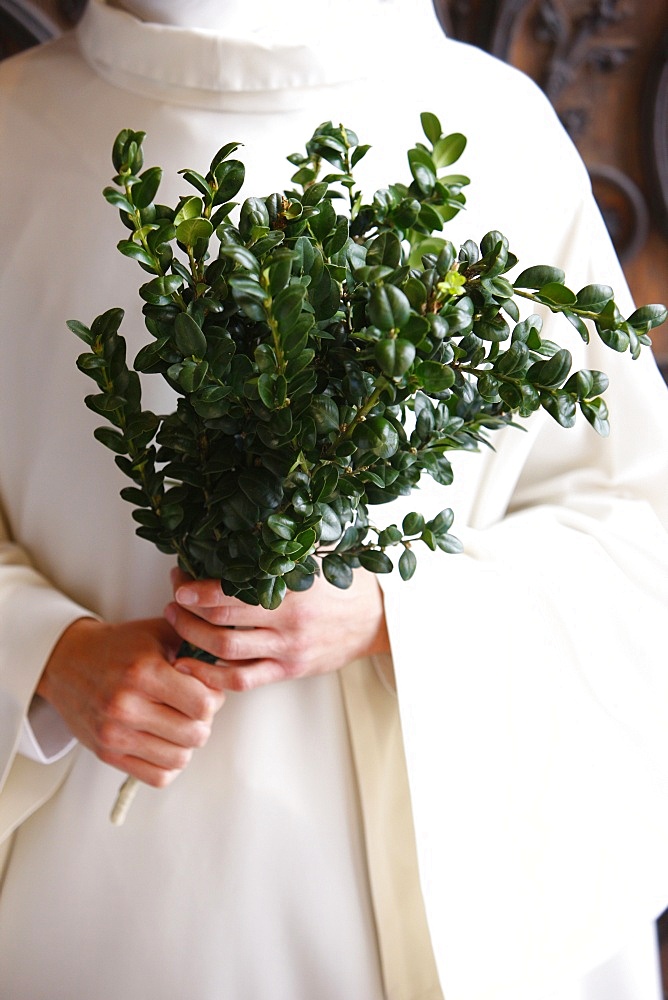
[[[250,604],[277,607],[320,567],[343,588],[358,566],[388,573],[394,546],[405,580],[415,542],[460,551],[450,510],[379,528],[369,508],[409,495],[424,473],[448,485],[446,453],[478,449],[515,415],[543,407],[570,427],[579,408],[608,433],[606,377],[571,373],[518,298],[563,313],[585,341],[590,321],[633,357],[666,319],[654,305],[625,320],[607,285],[575,294],[553,267],[511,282],[517,260],[499,232],[459,251],[435,235],[464,205],[468,179],[444,168],[466,140],[421,120],[427,144],[408,151],[408,184],[365,202],[353,168],[369,147],[327,122],[289,157],[295,190],[247,198],[237,223],[237,143],[206,175],[181,171],[197,193],[173,208],[155,203],[160,169],[142,172],[144,134],[114,143],[104,195],[130,230],[118,249],[149,275],[139,295],[152,339],[131,368],[121,310],[90,329],[70,322],[98,389],[86,403],[112,425],[95,434],[133,481],[122,496],[137,533]],[[172,413],[142,409],[138,372],[169,383]]]

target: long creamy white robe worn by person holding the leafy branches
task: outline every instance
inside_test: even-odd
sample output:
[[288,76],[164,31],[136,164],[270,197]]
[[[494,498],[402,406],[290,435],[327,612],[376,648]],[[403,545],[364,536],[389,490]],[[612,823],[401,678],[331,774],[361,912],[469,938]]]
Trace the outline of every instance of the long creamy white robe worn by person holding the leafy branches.
[[[606,281],[629,306],[544,97],[415,7],[380,4],[351,58],[334,15],[324,38],[272,47],[92,0],[76,37],[0,65],[0,821],[10,832],[49,799],[20,826],[2,889],[3,997],[611,1000],[589,970],[618,969],[668,902],[668,400],[647,354],[587,354],[612,377],[608,440],[537,415],[495,452],[456,456],[452,489],[406,502],[453,506],[466,551],[419,552],[410,583],[382,581],[398,701],[368,663],[232,697],[183,776],[142,789],[120,831],[117,772],[80,751],[50,797],[69,757],[16,755],[63,628],[89,611],[159,614],[169,596],[170,560],[134,536],[125,481],[92,438],[65,328],[121,305],[131,356],[146,339],[141,276],[100,194],[119,129],[147,132],[169,201],[177,170],[230,140],[244,195],[283,187],[284,157],[340,120],[373,146],[371,193],[407,177],[432,110],[469,138],[450,238],[500,229],[521,266],[558,264],[576,290]],[[552,339],[582,358],[567,322]],[[644,985],[610,975],[624,1000],[654,1000],[638,948]]]

